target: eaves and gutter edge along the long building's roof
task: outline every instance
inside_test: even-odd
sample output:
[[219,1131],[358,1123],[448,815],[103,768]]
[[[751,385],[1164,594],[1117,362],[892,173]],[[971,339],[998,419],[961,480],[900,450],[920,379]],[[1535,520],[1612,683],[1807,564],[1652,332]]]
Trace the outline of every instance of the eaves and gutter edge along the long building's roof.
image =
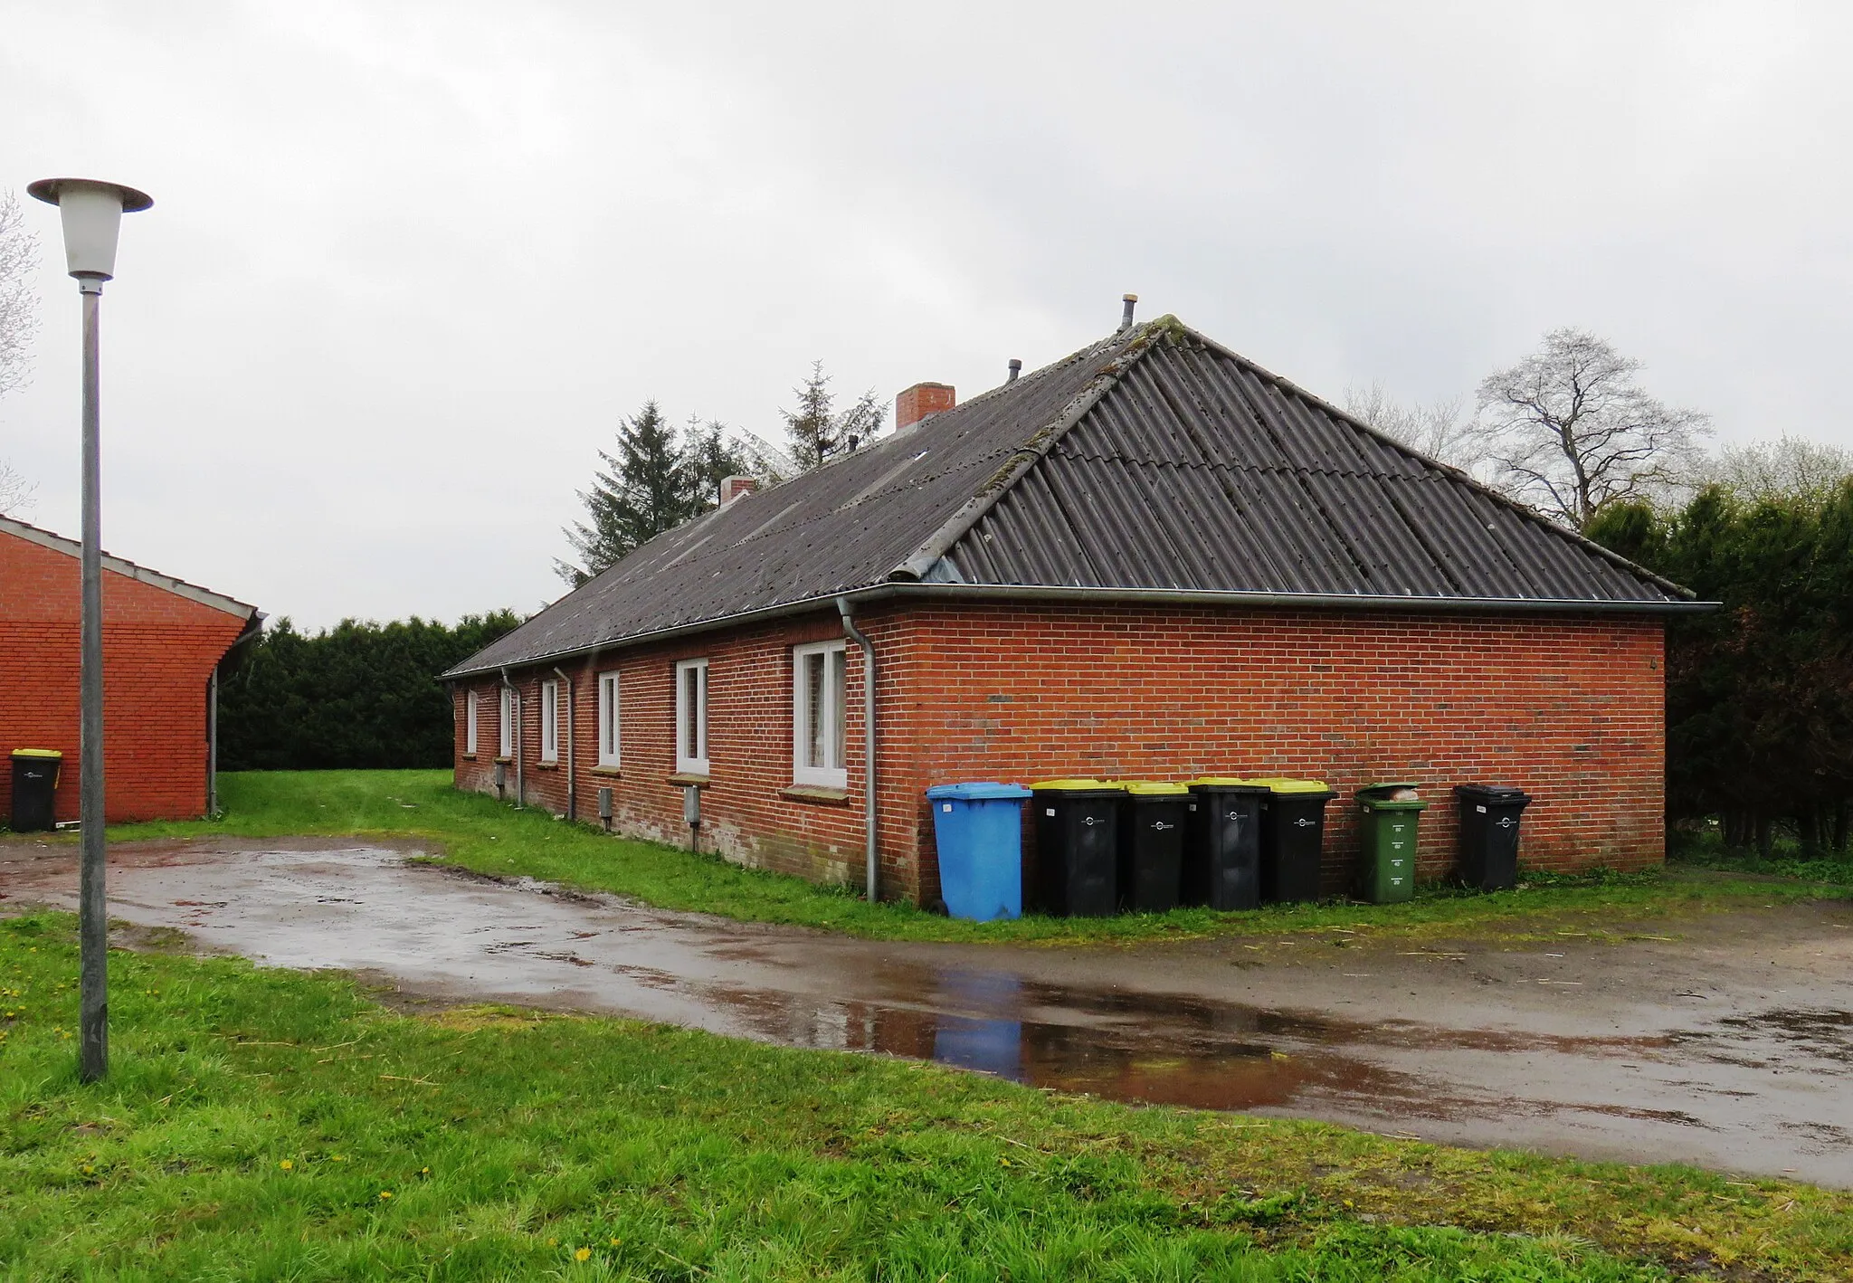
[[654,629],[626,638],[610,638],[595,645],[550,651],[523,660],[478,664],[443,673],[439,680],[461,680],[500,673],[508,667],[536,667],[563,660],[623,651],[652,642],[717,632],[721,629],[750,627],[771,619],[834,610],[836,603],[875,604],[884,601],[1027,601],[1027,603],[1088,603],[1088,604],[1156,604],[1156,606],[1221,606],[1230,610],[1368,610],[1379,614],[1482,614],[1482,616],[1690,616],[1718,610],[1716,601],[1595,601],[1584,597],[1362,597],[1351,593],[1271,593],[1271,591],[1214,591],[1201,588],[1082,588],[1064,584],[923,584],[912,580],[847,588],[838,593],[819,593],[799,601],[743,610],[739,614],[699,619],[673,629]]

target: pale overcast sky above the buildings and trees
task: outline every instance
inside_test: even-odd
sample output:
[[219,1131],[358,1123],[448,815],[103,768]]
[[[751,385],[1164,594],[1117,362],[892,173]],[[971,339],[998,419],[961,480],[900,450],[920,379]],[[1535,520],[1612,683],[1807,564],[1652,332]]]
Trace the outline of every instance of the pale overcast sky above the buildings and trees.
[[[1853,445],[1846,4],[85,4],[0,15],[0,189],[143,187],[106,545],[304,625],[558,597],[615,421],[973,395],[1119,295],[1342,399],[1581,324]],[[78,528],[56,211],[0,460]],[[41,217],[43,215],[43,217]]]

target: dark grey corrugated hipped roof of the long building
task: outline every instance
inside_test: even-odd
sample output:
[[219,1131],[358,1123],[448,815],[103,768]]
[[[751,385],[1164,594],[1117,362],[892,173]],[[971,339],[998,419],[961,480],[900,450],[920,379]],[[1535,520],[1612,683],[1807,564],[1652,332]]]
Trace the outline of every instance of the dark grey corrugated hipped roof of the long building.
[[447,677],[921,582],[1690,599],[1162,317],[650,540]]

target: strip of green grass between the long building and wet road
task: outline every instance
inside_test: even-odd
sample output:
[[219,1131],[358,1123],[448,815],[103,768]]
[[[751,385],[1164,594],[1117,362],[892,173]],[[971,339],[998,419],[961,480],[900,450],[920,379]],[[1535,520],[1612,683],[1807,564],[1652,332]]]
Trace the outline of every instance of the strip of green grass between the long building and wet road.
[[869,905],[804,879],[739,866],[654,842],[613,838],[539,810],[513,810],[450,786],[448,771],[274,771],[224,775],[226,814],[215,821],[126,825],[113,840],[233,834],[361,834],[413,838],[450,864],[493,875],[528,875],[615,892],[662,908],[743,921],[823,927],[878,940],[1138,942],[1212,934],[1279,934],[1330,927],[1395,936],[1516,936],[1575,927],[1623,931],[1684,912],[1771,899],[1847,894],[1838,883],[1771,884],[1729,873],[1529,875],[1523,890],[1469,896],[1427,888],[1408,905],[1279,905],[1249,912],[1180,908],[1119,918],[1038,918],[973,923],[914,905]]

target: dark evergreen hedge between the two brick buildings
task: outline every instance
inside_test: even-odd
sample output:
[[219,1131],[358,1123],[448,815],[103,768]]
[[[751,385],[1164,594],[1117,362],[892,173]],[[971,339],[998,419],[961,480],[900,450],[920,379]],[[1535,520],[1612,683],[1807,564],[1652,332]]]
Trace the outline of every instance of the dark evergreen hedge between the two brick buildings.
[[521,623],[497,610],[454,629],[343,619],[315,634],[278,619],[219,688],[226,771],[450,766],[450,695],[437,673]]

